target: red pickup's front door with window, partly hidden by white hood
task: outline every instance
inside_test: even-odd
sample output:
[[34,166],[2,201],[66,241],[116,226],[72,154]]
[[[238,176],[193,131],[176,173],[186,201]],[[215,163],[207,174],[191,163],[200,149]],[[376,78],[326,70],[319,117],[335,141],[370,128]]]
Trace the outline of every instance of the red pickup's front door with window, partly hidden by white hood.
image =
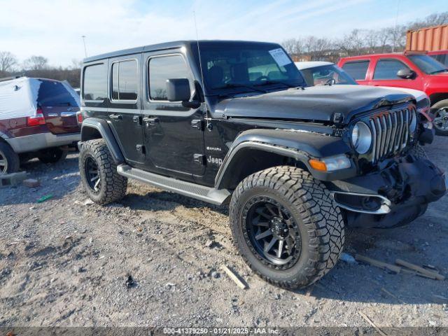
[[401,69],[411,69],[411,66],[408,66],[400,59],[391,57],[378,58],[377,63],[374,64],[374,71],[370,85],[407,87],[409,89],[416,90],[423,89],[421,85],[421,77],[419,76],[412,79],[398,77],[397,72]]

